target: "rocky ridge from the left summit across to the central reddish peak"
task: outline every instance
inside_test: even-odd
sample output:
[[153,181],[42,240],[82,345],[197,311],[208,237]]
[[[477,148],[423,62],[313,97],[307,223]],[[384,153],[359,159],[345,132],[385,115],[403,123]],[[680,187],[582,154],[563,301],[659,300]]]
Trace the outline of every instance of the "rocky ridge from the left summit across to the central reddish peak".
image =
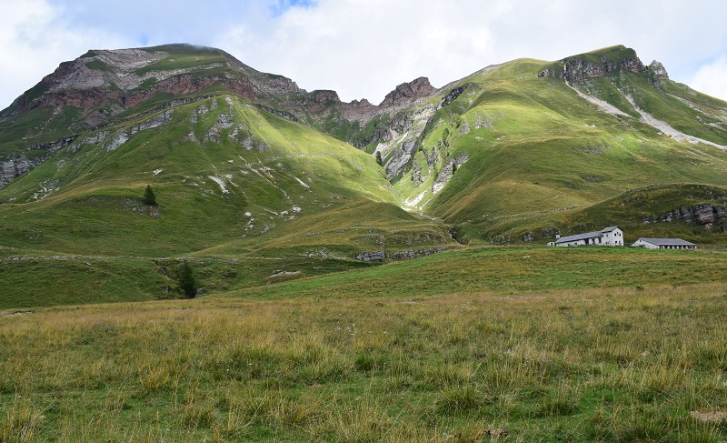
[[[190,63],[193,56],[198,56],[199,63]],[[38,107],[50,106],[56,115],[66,106],[74,106],[80,109],[80,116],[72,123],[73,131],[84,132],[118,123],[121,114],[146,100],[177,96],[144,111],[153,113],[178,106],[180,100],[209,97],[202,91],[220,86],[275,116],[329,132],[354,146],[392,139],[387,124],[367,125],[374,118],[395,119],[407,106],[437,93],[427,78],[420,77],[396,86],[379,106],[365,99],[343,103],[335,91],[309,93],[290,78],[256,71],[218,49],[164,45],[93,50],[65,62],[1,111],[0,121]],[[337,128],[342,126],[347,129]],[[366,133],[361,134],[364,128]]]

